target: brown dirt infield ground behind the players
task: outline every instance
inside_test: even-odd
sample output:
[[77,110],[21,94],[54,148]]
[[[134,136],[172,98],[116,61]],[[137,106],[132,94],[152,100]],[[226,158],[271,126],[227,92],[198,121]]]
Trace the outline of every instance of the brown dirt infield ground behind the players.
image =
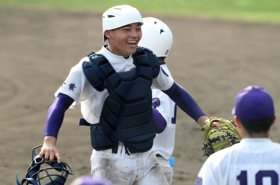
[[[101,12],[0,7],[0,184],[23,179],[32,148],[42,144],[54,93],[72,66],[103,45]],[[280,25],[142,13],[172,30],[168,67],[208,117],[232,119],[235,95],[260,85],[280,112]],[[57,146],[75,175],[90,174],[90,133],[78,126],[80,108],[68,110]],[[181,109],[173,152],[174,185],[193,184],[203,157],[200,126]],[[271,139],[280,142],[279,121]]]

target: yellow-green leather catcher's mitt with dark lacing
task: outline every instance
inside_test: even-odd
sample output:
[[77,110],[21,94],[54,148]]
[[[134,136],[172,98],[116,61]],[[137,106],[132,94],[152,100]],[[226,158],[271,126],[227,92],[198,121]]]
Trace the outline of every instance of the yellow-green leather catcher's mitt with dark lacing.
[[[212,122],[219,122],[221,130],[217,127],[211,127]],[[230,147],[241,141],[241,136],[233,120],[225,120],[223,118],[211,117],[202,125],[204,135],[204,155],[209,157],[214,152]]]

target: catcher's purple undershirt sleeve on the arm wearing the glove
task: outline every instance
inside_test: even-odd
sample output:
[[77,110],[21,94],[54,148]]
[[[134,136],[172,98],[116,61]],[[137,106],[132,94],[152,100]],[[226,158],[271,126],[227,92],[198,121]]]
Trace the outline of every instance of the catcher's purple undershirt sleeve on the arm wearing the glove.
[[187,92],[175,81],[171,88],[162,92],[167,94],[171,100],[173,100],[180,107],[180,109],[187,113],[196,122],[199,117],[206,116],[189,92]]

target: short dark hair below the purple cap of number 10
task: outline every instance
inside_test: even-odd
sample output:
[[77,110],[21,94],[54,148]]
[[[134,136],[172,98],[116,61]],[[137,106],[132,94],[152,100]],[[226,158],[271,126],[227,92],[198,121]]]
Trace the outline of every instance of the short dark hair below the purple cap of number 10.
[[248,134],[267,132],[273,123],[274,114],[260,120],[249,120],[238,117]]

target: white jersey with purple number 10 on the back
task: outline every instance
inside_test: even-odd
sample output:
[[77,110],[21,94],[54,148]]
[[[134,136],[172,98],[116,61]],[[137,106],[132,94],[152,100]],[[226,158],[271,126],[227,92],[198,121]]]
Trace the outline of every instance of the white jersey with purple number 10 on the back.
[[243,138],[205,161],[195,185],[280,185],[280,144]]

